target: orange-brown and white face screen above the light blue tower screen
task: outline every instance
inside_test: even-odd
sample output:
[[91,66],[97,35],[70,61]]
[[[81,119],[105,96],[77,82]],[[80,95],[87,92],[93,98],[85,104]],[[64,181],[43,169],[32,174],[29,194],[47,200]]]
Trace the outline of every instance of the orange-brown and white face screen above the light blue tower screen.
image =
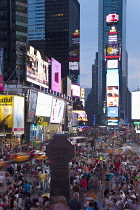
[[107,107],[118,107],[119,89],[118,86],[107,87]]

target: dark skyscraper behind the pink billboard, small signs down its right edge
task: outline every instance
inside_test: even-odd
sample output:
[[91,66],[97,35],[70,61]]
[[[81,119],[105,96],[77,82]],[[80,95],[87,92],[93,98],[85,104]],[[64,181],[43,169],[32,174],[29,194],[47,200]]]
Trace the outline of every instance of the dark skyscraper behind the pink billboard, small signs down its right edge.
[[[62,78],[79,84],[80,4],[78,0],[46,0],[46,53],[61,63]],[[64,87],[66,89],[66,87]]]

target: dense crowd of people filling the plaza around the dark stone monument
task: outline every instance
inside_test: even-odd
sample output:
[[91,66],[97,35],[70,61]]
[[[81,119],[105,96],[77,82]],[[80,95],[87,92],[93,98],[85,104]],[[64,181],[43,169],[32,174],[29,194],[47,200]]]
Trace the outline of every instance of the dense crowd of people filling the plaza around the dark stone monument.
[[[4,151],[29,152],[30,146]],[[11,164],[0,170],[0,209],[51,210],[139,210],[140,156],[131,151],[117,155],[95,155],[92,148],[77,147],[69,164],[71,199],[49,198],[50,162]]]

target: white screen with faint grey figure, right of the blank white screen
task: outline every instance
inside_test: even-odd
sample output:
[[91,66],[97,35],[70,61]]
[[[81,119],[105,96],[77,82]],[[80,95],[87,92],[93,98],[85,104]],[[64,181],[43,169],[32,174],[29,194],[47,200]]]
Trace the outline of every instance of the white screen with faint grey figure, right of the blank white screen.
[[64,101],[53,98],[50,123],[60,123],[64,114]]

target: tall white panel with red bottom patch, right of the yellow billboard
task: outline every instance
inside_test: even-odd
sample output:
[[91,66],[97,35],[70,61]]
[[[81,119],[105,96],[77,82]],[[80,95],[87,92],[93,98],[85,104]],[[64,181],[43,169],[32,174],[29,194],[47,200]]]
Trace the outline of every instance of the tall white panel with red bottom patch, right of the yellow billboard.
[[13,96],[13,132],[14,134],[24,134],[24,97]]

